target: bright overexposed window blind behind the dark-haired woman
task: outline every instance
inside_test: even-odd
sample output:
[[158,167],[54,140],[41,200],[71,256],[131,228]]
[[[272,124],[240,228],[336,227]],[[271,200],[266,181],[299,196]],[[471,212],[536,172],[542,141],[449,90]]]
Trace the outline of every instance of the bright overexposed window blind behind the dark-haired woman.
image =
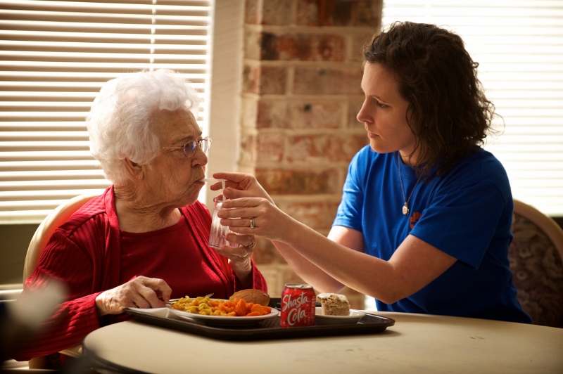
[[512,195],[563,216],[563,1],[384,0],[382,25],[433,23],[459,34],[504,123],[485,148]]

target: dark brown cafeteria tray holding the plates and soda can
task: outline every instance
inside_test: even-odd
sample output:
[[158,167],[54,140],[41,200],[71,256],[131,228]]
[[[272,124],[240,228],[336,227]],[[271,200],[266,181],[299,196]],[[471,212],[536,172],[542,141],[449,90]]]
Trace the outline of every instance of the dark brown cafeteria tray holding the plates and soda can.
[[298,337],[324,337],[342,335],[377,334],[389,326],[395,325],[391,318],[366,314],[360,321],[348,325],[315,325],[307,327],[280,328],[279,316],[260,321],[255,325],[214,326],[191,322],[187,319],[172,319],[144,313],[135,309],[126,309],[135,321],[157,325],[163,328],[183,331],[219,340],[271,340],[293,339]]

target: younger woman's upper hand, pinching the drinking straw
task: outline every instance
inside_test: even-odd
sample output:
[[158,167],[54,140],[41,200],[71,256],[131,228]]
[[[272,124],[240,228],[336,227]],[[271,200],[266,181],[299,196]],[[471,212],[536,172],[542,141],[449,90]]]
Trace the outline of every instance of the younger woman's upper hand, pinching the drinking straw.
[[[215,173],[213,178],[225,179],[225,198],[265,198],[274,204],[274,200],[268,195],[266,190],[260,186],[252,174],[243,173]],[[217,191],[222,188],[221,183],[210,186],[211,190]]]

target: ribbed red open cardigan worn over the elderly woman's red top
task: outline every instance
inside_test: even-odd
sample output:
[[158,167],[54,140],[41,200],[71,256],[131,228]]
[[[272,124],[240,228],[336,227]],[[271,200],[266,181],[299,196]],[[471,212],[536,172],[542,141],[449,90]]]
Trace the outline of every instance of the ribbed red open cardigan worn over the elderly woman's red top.
[[[198,248],[186,248],[185,243],[177,243],[176,246],[166,246],[162,255],[175,256],[178,251],[183,251],[185,258],[186,251],[189,252],[190,261],[205,266],[205,272],[213,275],[210,277],[210,281],[215,282],[213,297],[228,298],[238,287],[227,259],[207,244],[211,226],[208,209],[201,202],[196,202],[182,207],[180,211],[192,235],[186,242],[196,243]],[[53,233],[37,268],[25,281],[23,294],[40,291],[52,278],[61,280],[68,287],[65,297],[68,301],[58,306],[53,316],[42,326],[41,333],[26,342],[13,355],[13,359],[27,361],[33,357],[46,356],[73,347],[80,344],[84,337],[96,328],[129,319],[128,314],[99,318],[94,302],[101,292],[119,285],[120,256],[120,228],[112,186],[102,195],[87,202]],[[147,258],[146,261],[148,264],[153,259]],[[254,262],[252,266],[253,288],[267,292],[265,279]],[[140,269],[142,267],[143,264]],[[146,273],[139,275],[151,276]],[[171,277],[172,283],[189,282],[189,274],[186,273],[171,274]],[[177,292],[182,296],[202,296],[208,293],[208,290],[203,288],[188,289],[189,294],[183,293],[182,290]],[[217,292],[221,289],[224,292]]]

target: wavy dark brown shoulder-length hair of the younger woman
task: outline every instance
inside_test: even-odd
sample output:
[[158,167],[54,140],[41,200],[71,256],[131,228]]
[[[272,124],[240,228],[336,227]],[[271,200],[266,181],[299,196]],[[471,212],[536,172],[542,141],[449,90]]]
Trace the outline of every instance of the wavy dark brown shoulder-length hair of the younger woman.
[[460,36],[436,25],[395,22],[364,46],[365,63],[379,63],[394,75],[408,101],[407,124],[415,134],[421,179],[448,172],[482,146],[493,132],[495,106],[477,79],[478,63]]

